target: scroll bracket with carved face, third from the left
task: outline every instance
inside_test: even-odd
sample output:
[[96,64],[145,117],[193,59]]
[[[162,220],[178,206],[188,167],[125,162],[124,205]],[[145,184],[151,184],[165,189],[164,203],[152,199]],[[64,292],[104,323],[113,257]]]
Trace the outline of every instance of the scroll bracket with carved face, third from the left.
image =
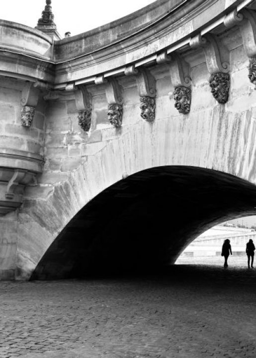
[[104,76],[96,77],[96,85],[105,84],[108,103],[108,120],[115,127],[121,127],[123,119],[123,90],[113,77],[105,79]]

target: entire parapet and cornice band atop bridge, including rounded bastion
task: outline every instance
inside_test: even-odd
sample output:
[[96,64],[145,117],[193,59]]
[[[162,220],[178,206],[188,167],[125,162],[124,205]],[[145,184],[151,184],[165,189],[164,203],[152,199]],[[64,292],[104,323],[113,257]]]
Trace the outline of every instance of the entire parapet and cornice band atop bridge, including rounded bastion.
[[[65,89],[69,84],[93,83],[97,75],[104,74],[106,78],[123,74],[128,65],[133,64],[136,68],[154,63],[163,51],[169,54],[177,49],[188,48],[191,37],[213,30],[223,23],[227,14],[236,9],[241,10],[250,2],[252,1],[159,0],[110,24],[55,41],[54,46],[52,39],[38,30],[1,20],[0,57],[4,59],[3,62],[0,61],[0,75],[15,77],[16,73],[21,79],[38,79],[54,89]],[[138,24],[143,14],[142,24]],[[145,19],[146,15],[148,19]],[[130,31],[125,26],[133,19],[135,30]],[[121,24],[123,36],[118,37]],[[99,46],[93,45],[90,49],[86,45],[86,41],[97,41],[97,34],[102,31],[111,34],[112,27],[115,26],[119,28],[119,33],[116,29],[113,30],[116,31],[113,40],[106,36],[103,42],[99,42]],[[13,41],[9,32],[12,28],[18,29],[17,41],[16,37]],[[27,41],[26,36],[31,37],[30,41]],[[69,58],[66,53],[72,54],[73,58]],[[17,72],[17,65],[21,72],[20,69]]]

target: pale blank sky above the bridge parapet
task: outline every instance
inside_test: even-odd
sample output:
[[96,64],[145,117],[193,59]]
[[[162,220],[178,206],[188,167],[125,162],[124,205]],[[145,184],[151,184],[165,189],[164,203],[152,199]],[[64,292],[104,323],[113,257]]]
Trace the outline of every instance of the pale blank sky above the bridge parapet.
[[[52,0],[54,21],[61,36],[91,30],[136,11],[154,0]],[[45,0],[1,0],[0,18],[35,27]]]

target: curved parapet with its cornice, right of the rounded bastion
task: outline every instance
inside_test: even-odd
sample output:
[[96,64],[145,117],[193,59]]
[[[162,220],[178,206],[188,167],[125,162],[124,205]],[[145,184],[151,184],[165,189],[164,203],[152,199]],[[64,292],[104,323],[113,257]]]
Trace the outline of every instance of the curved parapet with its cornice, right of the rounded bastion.
[[194,34],[211,31],[243,2],[158,0],[120,20],[56,41],[55,84],[93,82],[101,73],[124,73],[130,64],[152,65],[163,51],[185,51]]

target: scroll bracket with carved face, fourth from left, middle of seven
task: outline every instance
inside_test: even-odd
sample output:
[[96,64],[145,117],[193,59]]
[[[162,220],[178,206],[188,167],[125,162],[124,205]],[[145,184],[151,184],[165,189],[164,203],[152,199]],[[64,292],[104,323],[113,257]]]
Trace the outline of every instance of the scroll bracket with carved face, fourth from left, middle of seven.
[[135,75],[140,95],[141,117],[147,122],[155,120],[156,111],[156,80],[145,68],[135,69],[134,65],[125,69],[125,75]]

